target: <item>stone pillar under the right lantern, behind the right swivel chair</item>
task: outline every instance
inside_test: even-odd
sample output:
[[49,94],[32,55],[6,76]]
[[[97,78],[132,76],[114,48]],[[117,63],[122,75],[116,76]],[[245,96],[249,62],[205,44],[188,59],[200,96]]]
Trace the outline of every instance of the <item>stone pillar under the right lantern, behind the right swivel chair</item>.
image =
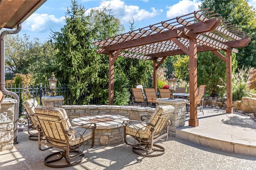
[[175,136],[175,129],[185,125],[186,121],[186,99],[156,99],[159,106],[172,105],[175,109],[170,118],[169,134]]

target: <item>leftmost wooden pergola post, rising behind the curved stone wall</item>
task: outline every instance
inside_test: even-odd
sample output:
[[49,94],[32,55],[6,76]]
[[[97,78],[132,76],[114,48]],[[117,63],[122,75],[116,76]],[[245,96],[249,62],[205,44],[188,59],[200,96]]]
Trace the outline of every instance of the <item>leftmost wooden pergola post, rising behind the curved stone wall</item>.
[[108,55],[108,105],[114,105],[114,55]]

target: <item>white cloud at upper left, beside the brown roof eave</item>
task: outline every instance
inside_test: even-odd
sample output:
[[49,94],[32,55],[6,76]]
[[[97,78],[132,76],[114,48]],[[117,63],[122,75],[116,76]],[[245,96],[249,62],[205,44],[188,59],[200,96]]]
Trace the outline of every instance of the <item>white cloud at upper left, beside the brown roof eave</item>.
[[32,32],[47,32],[62,27],[64,19],[64,16],[56,18],[54,15],[34,13],[22,24],[22,28]]

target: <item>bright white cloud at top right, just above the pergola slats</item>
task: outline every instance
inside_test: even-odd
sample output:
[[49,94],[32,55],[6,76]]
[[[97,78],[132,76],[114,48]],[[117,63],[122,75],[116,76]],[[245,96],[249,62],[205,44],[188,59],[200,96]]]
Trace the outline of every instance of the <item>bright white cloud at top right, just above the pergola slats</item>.
[[198,0],[181,0],[173,6],[167,6],[169,10],[166,12],[167,18],[176,18],[177,16],[182,16],[184,14],[197,11],[198,6],[201,4]]

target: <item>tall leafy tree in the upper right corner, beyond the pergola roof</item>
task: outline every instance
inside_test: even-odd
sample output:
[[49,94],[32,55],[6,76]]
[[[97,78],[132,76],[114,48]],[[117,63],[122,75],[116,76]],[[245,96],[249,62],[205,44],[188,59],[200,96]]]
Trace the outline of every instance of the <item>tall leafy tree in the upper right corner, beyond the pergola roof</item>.
[[200,8],[207,7],[252,37],[248,45],[239,48],[236,59],[239,68],[256,67],[256,10],[248,0],[202,0]]

